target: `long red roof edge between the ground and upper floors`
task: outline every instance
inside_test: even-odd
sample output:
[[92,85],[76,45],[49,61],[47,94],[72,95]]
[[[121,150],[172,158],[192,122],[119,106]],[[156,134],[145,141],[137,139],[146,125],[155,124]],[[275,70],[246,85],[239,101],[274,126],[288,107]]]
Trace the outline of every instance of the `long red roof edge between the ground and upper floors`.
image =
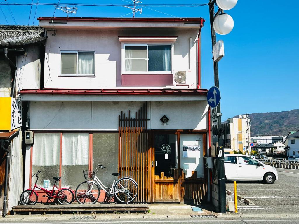
[[23,89],[21,94],[82,94],[82,95],[207,95],[207,89]]

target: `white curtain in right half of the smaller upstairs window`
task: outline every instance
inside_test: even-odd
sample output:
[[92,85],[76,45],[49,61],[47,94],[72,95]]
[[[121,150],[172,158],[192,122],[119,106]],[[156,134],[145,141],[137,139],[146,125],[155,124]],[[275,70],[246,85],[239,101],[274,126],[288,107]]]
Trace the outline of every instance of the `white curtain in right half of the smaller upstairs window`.
[[94,74],[94,52],[78,52],[78,74]]

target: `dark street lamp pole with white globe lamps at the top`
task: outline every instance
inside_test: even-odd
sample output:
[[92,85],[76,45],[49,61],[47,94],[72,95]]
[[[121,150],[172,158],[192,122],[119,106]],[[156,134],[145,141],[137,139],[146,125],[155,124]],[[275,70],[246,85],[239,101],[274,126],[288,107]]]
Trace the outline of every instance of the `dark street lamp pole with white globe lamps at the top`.
[[[223,41],[216,42],[216,32],[225,35],[231,32],[234,27],[234,20],[230,15],[223,12],[223,10],[230,10],[237,4],[237,0],[209,0],[209,11],[210,11],[210,26],[211,26],[211,39],[212,39],[212,53],[213,53],[213,65],[214,65],[214,82],[215,88],[219,91],[219,77],[218,77],[218,62],[224,56],[224,49],[221,55],[220,49],[223,46]],[[218,6],[218,10],[215,13],[215,6]],[[214,24],[215,22],[215,24]],[[214,26],[215,25],[215,26]],[[217,45],[216,45],[217,44]],[[216,46],[215,46],[216,45]],[[215,46],[215,49],[214,49]],[[220,57],[221,56],[221,57]],[[215,57],[215,58],[214,58]],[[211,89],[212,89],[211,88]],[[211,90],[210,89],[210,90]],[[210,91],[209,90],[209,91]],[[209,92],[208,92],[209,95]],[[208,98],[207,95],[207,98]],[[220,91],[219,91],[220,96]],[[216,95],[215,106],[216,106]],[[220,99],[219,99],[220,100]],[[208,103],[210,101],[208,100]],[[210,105],[210,104],[209,104]],[[216,157],[213,159],[213,182],[212,189],[212,201],[215,207],[221,213],[226,212],[226,189],[225,189],[225,174],[224,174],[224,153],[223,153],[223,139],[222,139],[222,125],[221,125],[221,111],[220,103],[216,106],[217,116],[217,142],[215,143]],[[213,142],[214,145],[214,142]]]

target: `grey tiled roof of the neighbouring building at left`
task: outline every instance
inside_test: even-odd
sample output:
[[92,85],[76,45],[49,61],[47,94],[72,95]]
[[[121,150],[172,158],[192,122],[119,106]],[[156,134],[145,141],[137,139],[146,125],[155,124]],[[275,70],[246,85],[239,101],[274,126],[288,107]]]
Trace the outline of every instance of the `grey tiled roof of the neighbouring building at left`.
[[1,46],[26,45],[46,39],[40,26],[0,25]]

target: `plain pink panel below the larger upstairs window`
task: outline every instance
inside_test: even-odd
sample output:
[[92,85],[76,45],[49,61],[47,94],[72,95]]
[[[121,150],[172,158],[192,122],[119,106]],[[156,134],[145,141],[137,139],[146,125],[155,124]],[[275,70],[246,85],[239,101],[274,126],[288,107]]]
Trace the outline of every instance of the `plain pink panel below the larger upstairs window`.
[[170,86],[173,85],[173,74],[122,74],[122,86]]

